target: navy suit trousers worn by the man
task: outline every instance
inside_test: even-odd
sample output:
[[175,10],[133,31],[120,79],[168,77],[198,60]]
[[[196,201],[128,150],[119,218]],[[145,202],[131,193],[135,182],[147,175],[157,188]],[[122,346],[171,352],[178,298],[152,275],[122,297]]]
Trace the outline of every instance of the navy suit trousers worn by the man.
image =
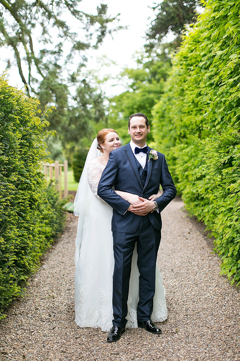
[[155,272],[161,231],[155,229],[148,216],[141,217],[136,232],[113,232],[113,326],[125,327],[132,254],[137,242],[139,269],[139,302],[137,320],[147,321],[153,312]]

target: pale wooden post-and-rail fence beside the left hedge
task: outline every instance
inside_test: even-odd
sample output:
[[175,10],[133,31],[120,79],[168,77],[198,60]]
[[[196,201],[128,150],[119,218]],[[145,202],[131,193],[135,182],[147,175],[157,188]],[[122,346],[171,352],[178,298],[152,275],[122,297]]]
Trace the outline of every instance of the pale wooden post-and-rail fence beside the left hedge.
[[68,195],[68,161],[64,160],[63,164],[60,164],[58,160],[54,163],[44,163],[43,173],[45,175],[45,179],[53,179],[53,169],[54,169],[54,177],[56,182],[56,187],[60,191],[60,197],[62,196],[62,167],[64,170],[64,197]]

